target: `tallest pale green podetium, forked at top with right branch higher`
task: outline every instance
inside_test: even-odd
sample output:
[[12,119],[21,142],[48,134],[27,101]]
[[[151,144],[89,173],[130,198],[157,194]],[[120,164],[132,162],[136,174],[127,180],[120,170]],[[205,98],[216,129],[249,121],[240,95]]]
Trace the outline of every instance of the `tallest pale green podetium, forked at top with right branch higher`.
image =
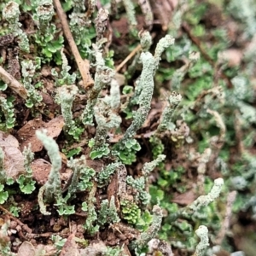
[[[145,33],[145,36],[147,36],[147,33]],[[143,42],[143,37],[141,38],[141,42]],[[160,42],[156,45],[154,56],[149,52],[143,52],[141,55],[143,72],[138,84],[139,88],[142,88],[138,101],[139,108],[137,109],[137,113],[131,125],[126,130],[124,137],[119,142],[121,148],[125,148],[125,141],[134,137],[137,130],[143,126],[143,123],[147,119],[154,90],[154,73],[159,66],[160,55],[172,44],[174,44],[174,38],[170,35],[166,35],[166,37],[161,38]]]

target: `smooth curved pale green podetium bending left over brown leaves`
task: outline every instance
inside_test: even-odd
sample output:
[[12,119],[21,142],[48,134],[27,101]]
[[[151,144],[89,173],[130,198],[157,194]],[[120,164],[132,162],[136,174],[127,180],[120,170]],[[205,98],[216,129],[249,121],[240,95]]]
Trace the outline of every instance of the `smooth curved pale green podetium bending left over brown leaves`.
[[[36,131],[36,135],[38,139],[44,144],[44,148],[46,148],[47,153],[49,155],[49,159],[51,161],[51,169],[49,172],[49,177],[47,182],[41,187],[41,192],[44,191],[44,199],[47,202],[57,201],[61,196],[61,154],[59,152],[58,144],[51,137],[46,135],[46,131]],[[41,193],[42,195],[42,193]],[[42,198],[39,198],[38,195],[38,203],[40,206],[40,210],[42,212],[42,205],[44,208],[44,202],[41,201]],[[40,205],[41,204],[41,205]],[[44,214],[50,214],[49,212],[44,212]]]

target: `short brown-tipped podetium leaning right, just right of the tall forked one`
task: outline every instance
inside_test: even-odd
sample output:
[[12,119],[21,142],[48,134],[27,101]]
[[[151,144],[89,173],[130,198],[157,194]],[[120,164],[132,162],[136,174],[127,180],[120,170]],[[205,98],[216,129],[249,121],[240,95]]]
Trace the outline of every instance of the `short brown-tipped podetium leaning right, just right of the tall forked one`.
[[166,108],[162,113],[160,125],[158,125],[156,133],[168,130],[168,127],[170,127],[170,124],[172,123],[172,114],[181,100],[182,96],[176,91],[173,91],[171,96],[169,96]]

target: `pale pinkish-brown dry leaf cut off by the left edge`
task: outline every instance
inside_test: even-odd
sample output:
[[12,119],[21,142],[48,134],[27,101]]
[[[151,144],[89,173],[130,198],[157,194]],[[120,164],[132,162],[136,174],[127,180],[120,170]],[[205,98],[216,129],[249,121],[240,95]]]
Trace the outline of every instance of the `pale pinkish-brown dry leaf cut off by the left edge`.
[[4,152],[4,170],[8,177],[18,177],[24,170],[24,157],[15,137],[0,131],[0,147]]

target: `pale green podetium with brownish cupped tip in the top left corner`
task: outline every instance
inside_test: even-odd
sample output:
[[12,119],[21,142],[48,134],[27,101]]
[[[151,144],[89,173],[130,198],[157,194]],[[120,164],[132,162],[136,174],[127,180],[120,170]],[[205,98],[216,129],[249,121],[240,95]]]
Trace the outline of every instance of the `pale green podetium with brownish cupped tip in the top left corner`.
[[19,46],[21,50],[29,52],[29,42],[26,37],[26,33],[20,29],[20,9],[19,4],[10,1],[3,8],[3,18],[9,22],[9,30],[15,36],[19,38]]

